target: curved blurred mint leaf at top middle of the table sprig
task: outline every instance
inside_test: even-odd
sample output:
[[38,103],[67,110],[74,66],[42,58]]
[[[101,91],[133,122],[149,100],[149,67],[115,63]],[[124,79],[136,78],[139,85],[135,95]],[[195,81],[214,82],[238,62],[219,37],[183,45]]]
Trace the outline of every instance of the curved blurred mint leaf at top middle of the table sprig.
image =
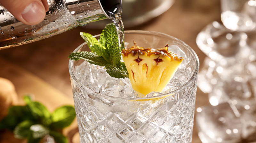
[[40,102],[30,102],[28,104],[32,114],[39,116],[41,118],[41,122],[44,125],[51,124],[51,113],[49,110]]

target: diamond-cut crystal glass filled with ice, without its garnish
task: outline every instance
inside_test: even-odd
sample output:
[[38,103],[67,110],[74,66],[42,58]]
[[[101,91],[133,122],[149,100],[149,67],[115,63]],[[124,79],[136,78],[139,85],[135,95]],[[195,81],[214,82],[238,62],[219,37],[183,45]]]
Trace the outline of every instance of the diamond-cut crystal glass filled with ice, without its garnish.
[[[94,36],[99,39],[100,35]],[[191,143],[199,61],[186,43],[149,31],[125,31],[125,47],[162,48],[184,57],[162,93],[145,97],[129,79],[110,77],[104,67],[69,61],[81,143]],[[74,52],[88,51],[85,43]]]

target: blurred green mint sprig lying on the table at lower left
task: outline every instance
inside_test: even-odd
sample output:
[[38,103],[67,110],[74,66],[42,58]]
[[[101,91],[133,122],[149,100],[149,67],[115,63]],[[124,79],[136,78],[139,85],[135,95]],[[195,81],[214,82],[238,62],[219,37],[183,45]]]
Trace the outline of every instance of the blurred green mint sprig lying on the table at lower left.
[[69,126],[76,117],[75,108],[62,106],[52,114],[40,102],[24,96],[25,106],[12,106],[8,115],[0,122],[0,130],[13,131],[17,139],[28,139],[28,143],[39,143],[50,135],[56,143],[68,143],[67,137],[57,132]]

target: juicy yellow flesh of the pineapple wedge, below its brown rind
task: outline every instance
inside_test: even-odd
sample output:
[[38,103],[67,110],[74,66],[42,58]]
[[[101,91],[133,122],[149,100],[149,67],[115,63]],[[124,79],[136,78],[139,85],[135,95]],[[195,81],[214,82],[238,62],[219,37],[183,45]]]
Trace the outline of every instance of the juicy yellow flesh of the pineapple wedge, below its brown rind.
[[[155,91],[162,92],[164,87],[170,82],[175,72],[183,61],[164,56],[162,54],[128,54],[122,53],[125,66],[129,72],[132,88],[144,95]],[[159,58],[163,61],[156,62]],[[136,62],[136,59],[142,59]]]

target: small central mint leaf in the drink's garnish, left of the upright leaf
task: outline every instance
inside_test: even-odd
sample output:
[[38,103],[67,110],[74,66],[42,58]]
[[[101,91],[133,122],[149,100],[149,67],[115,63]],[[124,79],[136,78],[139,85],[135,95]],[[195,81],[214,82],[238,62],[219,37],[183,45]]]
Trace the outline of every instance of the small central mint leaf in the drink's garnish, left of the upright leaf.
[[102,46],[100,43],[94,43],[92,45],[92,50],[96,52],[98,56],[102,56],[106,61],[109,61],[109,52],[108,49]]

